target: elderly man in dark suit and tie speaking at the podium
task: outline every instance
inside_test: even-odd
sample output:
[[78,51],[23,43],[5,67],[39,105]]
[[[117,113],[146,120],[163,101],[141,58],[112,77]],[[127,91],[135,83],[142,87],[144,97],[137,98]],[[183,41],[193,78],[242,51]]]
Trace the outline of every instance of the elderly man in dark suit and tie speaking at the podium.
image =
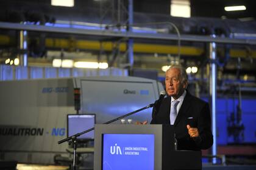
[[[185,69],[170,66],[165,77],[168,97],[153,109],[151,124],[172,124],[178,150],[208,149],[213,144],[210,108],[207,102],[192,96],[187,85]],[[193,127],[188,122],[193,122]]]

